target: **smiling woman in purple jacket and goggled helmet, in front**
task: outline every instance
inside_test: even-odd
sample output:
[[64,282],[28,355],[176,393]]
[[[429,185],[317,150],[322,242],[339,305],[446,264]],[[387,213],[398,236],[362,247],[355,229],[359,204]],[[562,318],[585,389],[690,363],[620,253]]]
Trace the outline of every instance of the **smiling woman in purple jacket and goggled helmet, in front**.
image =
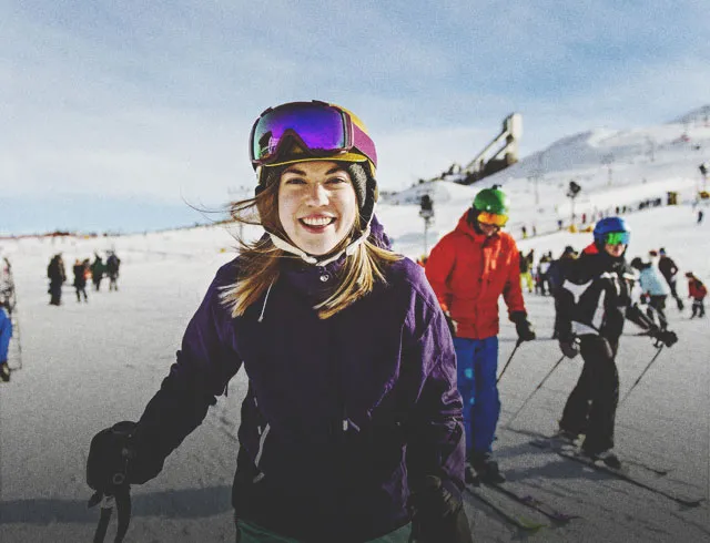
[[266,110],[250,146],[256,196],[231,211],[266,233],[220,268],[139,422],[94,437],[90,485],[154,478],[244,366],[237,541],[469,543],[454,346],[374,217],[373,141],[313,101]]

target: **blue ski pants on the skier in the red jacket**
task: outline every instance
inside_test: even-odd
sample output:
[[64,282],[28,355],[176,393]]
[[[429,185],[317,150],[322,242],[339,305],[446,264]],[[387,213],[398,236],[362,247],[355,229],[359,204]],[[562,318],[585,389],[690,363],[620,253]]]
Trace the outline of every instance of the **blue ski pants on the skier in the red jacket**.
[[458,391],[464,400],[466,458],[491,452],[500,416],[496,385],[498,337],[485,339],[454,338]]

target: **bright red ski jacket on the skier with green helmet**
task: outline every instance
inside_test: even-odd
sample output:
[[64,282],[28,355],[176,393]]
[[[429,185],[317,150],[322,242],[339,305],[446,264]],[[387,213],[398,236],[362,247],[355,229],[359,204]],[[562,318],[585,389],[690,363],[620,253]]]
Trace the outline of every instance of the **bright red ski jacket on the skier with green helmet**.
[[497,336],[498,298],[508,316],[525,313],[520,289],[519,252],[505,232],[487,238],[468,224],[468,212],[454,232],[432,249],[426,276],[445,311],[458,326],[456,336],[484,339]]

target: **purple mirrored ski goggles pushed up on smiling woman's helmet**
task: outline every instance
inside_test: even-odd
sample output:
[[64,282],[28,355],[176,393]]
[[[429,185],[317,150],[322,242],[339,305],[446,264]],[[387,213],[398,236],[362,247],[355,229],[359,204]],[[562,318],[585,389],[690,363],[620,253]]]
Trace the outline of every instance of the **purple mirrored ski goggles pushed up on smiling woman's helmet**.
[[[369,160],[377,167],[375,144],[365,130],[342,107],[325,102],[291,102],[260,115],[250,135],[254,168],[286,163],[293,144],[311,158],[333,157],[347,162]],[[292,160],[300,161],[297,155]]]

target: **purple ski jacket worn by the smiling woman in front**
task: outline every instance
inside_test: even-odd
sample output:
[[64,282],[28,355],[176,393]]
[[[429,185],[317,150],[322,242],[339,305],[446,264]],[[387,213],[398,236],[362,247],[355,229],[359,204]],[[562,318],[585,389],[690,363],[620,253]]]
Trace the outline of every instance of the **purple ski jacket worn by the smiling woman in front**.
[[130,480],[158,474],[244,366],[237,518],[305,541],[367,541],[409,522],[409,485],[424,475],[460,495],[456,358],[424,270],[403,258],[386,284],[322,320],[313,306],[342,265],[284,259],[271,291],[237,318],[220,293],[240,258],[217,272],[141,417]]

